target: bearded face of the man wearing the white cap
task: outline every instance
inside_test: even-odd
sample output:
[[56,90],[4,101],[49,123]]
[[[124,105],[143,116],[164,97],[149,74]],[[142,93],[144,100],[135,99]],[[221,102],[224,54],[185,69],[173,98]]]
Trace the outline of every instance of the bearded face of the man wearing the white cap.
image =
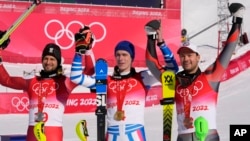
[[183,69],[189,73],[195,73],[198,69],[200,55],[188,48],[183,48],[179,52],[180,63]]

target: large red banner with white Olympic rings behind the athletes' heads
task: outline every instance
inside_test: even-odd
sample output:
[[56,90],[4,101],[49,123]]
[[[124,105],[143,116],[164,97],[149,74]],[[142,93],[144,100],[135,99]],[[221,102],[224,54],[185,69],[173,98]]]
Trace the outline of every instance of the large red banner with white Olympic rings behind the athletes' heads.
[[[96,58],[105,58],[109,67],[113,67],[115,45],[129,40],[136,47],[134,66],[145,67],[144,25],[148,21],[160,19],[169,47],[176,53],[179,46],[180,0],[166,2],[164,9],[42,2],[10,36],[10,45],[2,52],[3,61],[41,63],[42,49],[54,42],[62,49],[63,63],[71,64],[74,33],[89,25],[95,36]],[[0,30],[7,30],[30,5],[30,2],[0,1]],[[159,58],[163,61],[162,56]]]

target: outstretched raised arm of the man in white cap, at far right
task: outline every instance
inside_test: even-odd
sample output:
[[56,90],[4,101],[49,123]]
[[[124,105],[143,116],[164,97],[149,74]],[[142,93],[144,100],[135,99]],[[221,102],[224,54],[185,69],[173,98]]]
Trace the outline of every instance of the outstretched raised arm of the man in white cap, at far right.
[[205,70],[206,77],[208,78],[210,85],[214,87],[214,89],[216,89],[216,83],[219,83],[221,76],[228,67],[232,54],[238,44],[238,38],[240,35],[241,23],[243,20],[243,13],[245,8],[239,3],[233,3],[229,6],[229,10],[233,16],[233,24],[228,34],[226,44],[216,61]]

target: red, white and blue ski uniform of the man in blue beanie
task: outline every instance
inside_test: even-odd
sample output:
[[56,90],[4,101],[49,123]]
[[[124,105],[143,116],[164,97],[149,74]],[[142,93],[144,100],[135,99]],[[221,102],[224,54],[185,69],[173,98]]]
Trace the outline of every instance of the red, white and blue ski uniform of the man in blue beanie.
[[[163,48],[167,49],[166,46]],[[170,57],[165,58],[165,61],[169,60]],[[76,54],[72,63],[71,80],[77,85],[85,82],[81,62],[81,56]],[[175,60],[172,60],[172,64],[176,64]],[[148,71],[136,72],[134,68],[126,74],[117,76],[117,73],[119,72],[115,67],[114,74],[108,76],[107,80],[106,141],[146,141],[145,99],[148,89],[158,81]],[[95,78],[89,82],[94,85]],[[122,118],[116,117],[117,112],[123,113]]]

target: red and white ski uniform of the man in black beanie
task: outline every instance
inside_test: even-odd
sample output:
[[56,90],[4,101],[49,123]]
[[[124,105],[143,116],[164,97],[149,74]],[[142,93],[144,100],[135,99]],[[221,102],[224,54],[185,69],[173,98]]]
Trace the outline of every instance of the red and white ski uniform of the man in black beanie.
[[[84,73],[93,74],[94,61],[91,53],[85,55],[88,67]],[[67,99],[72,90],[77,86],[64,75],[42,78],[35,76],[31,79],[13,77],[8,74],[3,64],[0,65],[0,84],[13,89],[27,92],[29,97],[29,127],[27,130],[27,141],[35,141],[34,125],[37,123],[37,113],[42,109],[44,115],[44,133],[47,141],[63,140],[63,114]],[[83,84],[88,87],[88,84]],[[42,100],[43,102],[39,102]],[[41,107],[41,109],[39,108]]]

